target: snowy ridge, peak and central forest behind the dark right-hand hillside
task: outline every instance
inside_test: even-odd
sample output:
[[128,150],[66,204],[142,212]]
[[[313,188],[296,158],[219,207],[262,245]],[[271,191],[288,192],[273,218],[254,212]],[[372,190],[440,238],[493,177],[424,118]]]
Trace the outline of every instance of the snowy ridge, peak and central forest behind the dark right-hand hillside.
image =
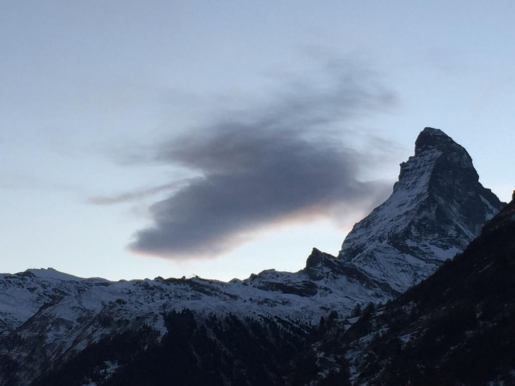
[[317,364],[297,352],[314,326],[348,325],[356,305],[419,283],[502,207],[467,151],[425,128],[388,200],[338,256],[313,249],[298,272],[229,283],[0,275],[0,385],[304,384]]

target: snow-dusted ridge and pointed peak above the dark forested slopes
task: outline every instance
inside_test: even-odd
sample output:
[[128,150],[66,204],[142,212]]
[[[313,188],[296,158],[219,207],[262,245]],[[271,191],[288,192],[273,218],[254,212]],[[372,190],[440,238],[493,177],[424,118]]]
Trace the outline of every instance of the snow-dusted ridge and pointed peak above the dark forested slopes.
[[[449,136],[426,128],[415,145],[390,198],[354,226],[339,256],[314,249],[299,272],[266,270],[229,283],[199,277],[108,282],[55,270],[0,275],[0,385],[39,384],[48,372],[129,332],[150,328],[158,344],[171,332],[170,312],[191,310],[200,325],[213,315],[232,315],[254,325],[255,336],[264,334],[255,323],[268,321],[267,331],[273,324],[298,337],[321,317],[392,299],[464,250],[502,207]],[[208,336],[216,335],[213,328]],[[220,337],[214,341],[223,346]],[[108,354],[96,355],[107,363],[98,364],[97,378],[121,366]],[[88,384],[92,375],[80,376],[74,384]]]

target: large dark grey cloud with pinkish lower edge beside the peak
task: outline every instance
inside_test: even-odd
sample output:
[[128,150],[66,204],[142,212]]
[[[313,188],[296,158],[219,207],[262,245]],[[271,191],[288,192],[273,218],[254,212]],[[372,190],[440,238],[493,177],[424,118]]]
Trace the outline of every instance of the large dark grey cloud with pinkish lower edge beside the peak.
[[159,146],[158,161],[202,177],[153,204],[153,225],[134,235],[130,249],[215,256],[267,225],[327,215],[338,205],[365,210],[383,196],[384,184],[359,181],[375,158],[349,141],[356,117],[387,109],[394,98],[362,74],[333,67],[329,79],[295,82],[264,108]]

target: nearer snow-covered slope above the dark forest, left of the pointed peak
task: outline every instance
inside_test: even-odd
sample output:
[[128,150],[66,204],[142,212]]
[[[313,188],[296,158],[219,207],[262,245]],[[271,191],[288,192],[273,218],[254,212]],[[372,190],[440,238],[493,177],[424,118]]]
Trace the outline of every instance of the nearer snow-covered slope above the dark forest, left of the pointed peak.
[[[265,271],[230,283],[158,278],[92,286],[40,308],[0,341],[0,384],[29,384],[43,371],[123,331],[151,326],[159,339],[167,331],[163,312],[171,310],[193,310],[199,320],[211,314],[233,314],[242,319],[278,318],[302,327],[306,322],[318,323],[320,315],[332,311],[346,314],[356,300],[366,302],[373,297],[345,276],[313,282],[304,275]],[[339,288],[352,288],[356,299]],[[18,383],[2,374],[2,367],[9,366],[15,366]]]

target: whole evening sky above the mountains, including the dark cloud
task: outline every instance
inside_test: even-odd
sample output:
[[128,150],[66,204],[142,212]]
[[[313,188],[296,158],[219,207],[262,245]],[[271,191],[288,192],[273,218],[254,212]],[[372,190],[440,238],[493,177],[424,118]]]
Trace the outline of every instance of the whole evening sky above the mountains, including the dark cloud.
[[0,7],[0,272],[297,271],[426,126],[515,188],[512,1]]

